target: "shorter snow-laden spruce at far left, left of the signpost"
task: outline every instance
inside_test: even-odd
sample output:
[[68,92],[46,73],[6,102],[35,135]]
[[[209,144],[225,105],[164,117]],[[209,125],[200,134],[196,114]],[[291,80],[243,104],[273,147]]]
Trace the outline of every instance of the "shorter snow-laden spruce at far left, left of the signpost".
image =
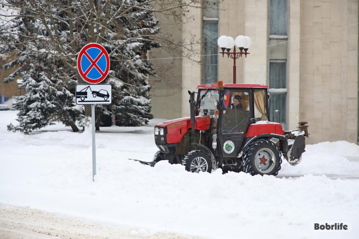
[[[23,83],[19,87],[26,94],[18,96],[15,103],[15,108],[19,109],[19,125],[10,124],[8,129],[27,134],[34,129],[53,124],[52,121],[61,121],[66,126],[71,126],[74,132],[79,131],[75,121],[79,120],[78,116],[82,114],[83,109],[75,104],[73,93],[66,89],[66,86],[73,88],[76,82],[61,80],[61,71],[64,70],[59,67],[61,62],[53,61],[47,65],[50,59],[46,59],[44,55],[28,57],[28,64],[22,64],[21,57],[13,61],[22,65]],[[8,80],[14,75],[8,77]]]

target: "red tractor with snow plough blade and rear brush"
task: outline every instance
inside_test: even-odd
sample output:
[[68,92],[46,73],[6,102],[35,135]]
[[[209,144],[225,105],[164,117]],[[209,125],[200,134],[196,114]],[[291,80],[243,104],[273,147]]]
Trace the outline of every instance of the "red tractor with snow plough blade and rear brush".
[[277,175],[282,156],[300,162],[308,137],[307,122],[284,131],[269,120],[268,86],[250,84],[199,85],[190,92],[190,117],[155,125],[159,148],[152,162],[183,164],[187,171],[211,172],[222,168],[251,175]]

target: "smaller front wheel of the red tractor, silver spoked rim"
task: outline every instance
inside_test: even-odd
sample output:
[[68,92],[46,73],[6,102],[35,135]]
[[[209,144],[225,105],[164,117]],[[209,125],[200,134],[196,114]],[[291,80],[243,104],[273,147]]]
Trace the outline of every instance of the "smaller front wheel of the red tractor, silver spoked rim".
[[201,150],[192,150],[189,152],[183,159],[182,164],[185,164],[186,170],[192,173],[199,173],[200,171],[210,173],[212,171],[210,156]]

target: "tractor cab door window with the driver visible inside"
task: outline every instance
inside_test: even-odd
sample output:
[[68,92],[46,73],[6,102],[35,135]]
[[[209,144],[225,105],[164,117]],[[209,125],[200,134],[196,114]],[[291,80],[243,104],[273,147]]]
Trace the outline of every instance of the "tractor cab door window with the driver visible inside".
[[[250,118],[250,95],[248,91],[233,91],[227,109],[222,107],[222,133],[244,132]],[[227,98],[227,97],[226,97]],[[227,101],[227,99],[224,99]]]

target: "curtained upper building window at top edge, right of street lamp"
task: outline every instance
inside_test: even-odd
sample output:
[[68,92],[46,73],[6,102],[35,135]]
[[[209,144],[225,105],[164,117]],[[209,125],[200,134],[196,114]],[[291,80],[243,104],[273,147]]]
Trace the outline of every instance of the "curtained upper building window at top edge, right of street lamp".
[[286,36],[288,27],[288,0],[269,1],[269,35]]

